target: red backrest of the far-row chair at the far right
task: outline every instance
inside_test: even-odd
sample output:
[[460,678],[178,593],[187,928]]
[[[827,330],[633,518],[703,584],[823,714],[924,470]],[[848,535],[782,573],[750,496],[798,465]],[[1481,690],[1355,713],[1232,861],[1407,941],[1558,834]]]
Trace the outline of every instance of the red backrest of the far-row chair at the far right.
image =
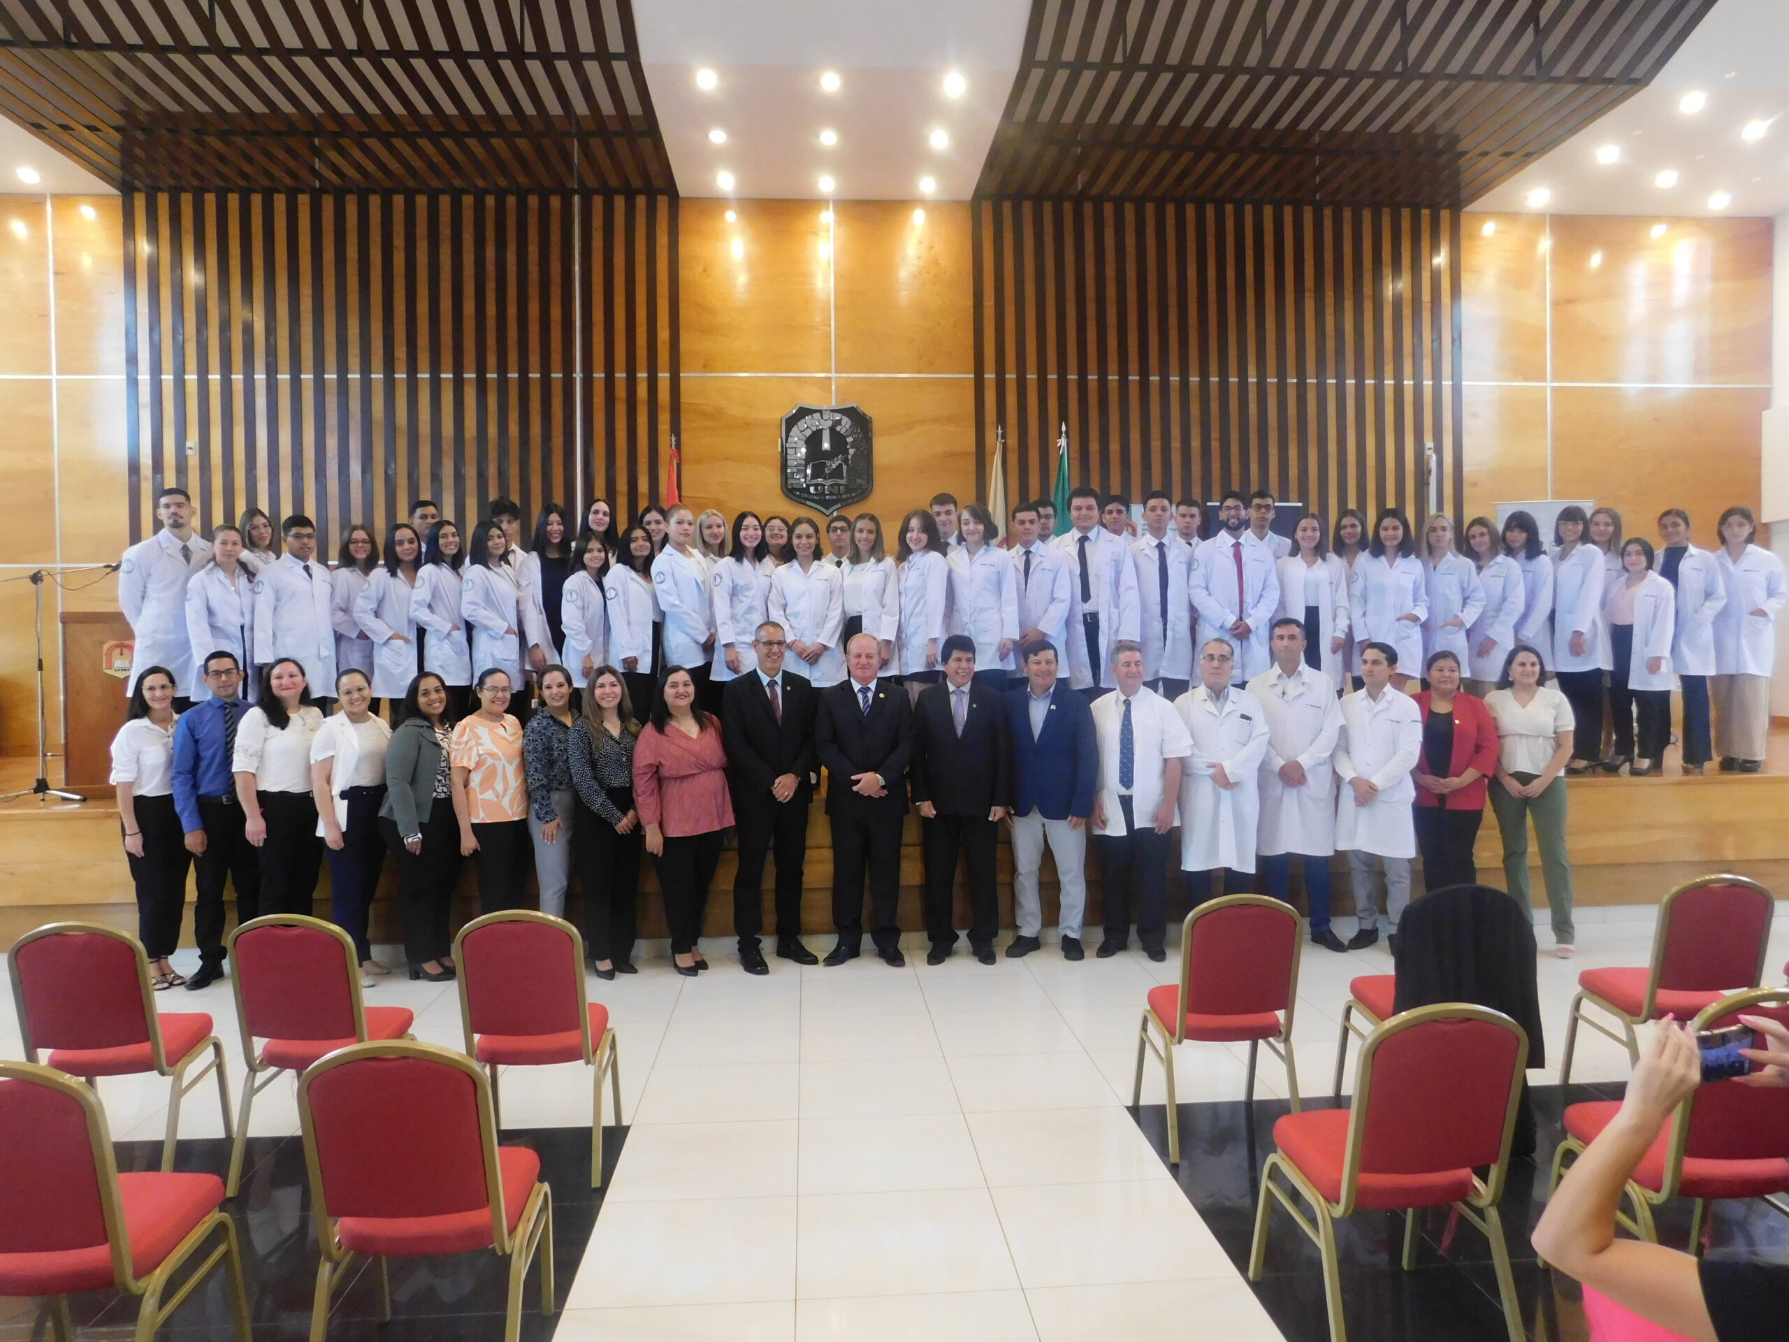
[[1773,905],[1771,893],[1746,877],[1698,877],[1673,889],[1658,905],[1651,988],[1683,993],[1757,988]]

